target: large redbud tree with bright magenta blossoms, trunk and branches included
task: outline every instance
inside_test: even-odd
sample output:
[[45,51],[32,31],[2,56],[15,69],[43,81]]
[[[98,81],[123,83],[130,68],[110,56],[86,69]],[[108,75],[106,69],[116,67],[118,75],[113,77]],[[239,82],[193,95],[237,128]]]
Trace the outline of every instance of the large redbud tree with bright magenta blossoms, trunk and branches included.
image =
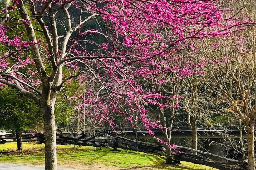
[[[188,39],[226,36],[234,25],[241,25],[234,17],[224,17],[223,13],[229,10],[227,6],[222,8],[222,3],[6,0],[1,11],[0,83],[17,89],[40,107],[45,130],[45,169],[57,169],[55,102],[74,79],[83,79],[88,86],[89,80],[97,82],[87,101],[101,106],[102,117],[121,107],[122,100],[131,108],[123,109],[124,114],[139,114],[148,129],[159,126],[169,130],[160,125],[164,117],[154,122],[147,118],[145,105],[176,107],[176,103],[161,103],[163,98],[173,97],[155,90],[157,86],[149,90],[139,80],[161,84],[172,81],[165,76],[170,72],[181,77],[197,74],[196,65],[179,63],[179,57],[172,53],[181,44],[189,46]],[[106,100],[101,99],[101,93],[112,100],[102,102]],[[150,129],[149,133],[152,134]]]

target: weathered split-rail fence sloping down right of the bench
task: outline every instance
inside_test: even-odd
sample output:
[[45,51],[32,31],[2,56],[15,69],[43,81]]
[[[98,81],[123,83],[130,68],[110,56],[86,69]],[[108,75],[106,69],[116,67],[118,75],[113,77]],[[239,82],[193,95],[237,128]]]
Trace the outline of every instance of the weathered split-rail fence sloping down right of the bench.
[[[154,155],[163,155],[166,156],[166,150],[163,144],[156,143],[151,144],[148,142],[140,142],[135,140],[126,139],[124,137],[119,136],[107,136],[108,144],[110,147],[114,148],[122,148],[129,149],[134,151],[140,151],[145,153],[151,153]],[[181,153],[177,151],[182,151]],[[192,154],[192,152],[196,152],[198,155]],[[245,161],[233,160],[230,158],[221,157],[218,155],[214,155],[212,153],[202,152],[199,150],[194,150],[191,148],[178,146],[176,152],[172,152],[173,158],[179,161],[192,162],[195,164],[203,164],[206,166],[210,166],[213,168],[217,168],[220,170],[241,170],[248,169],[248,163]],[[208,158],[208,156],[213,156],[218,159],[223,159],[226,163],[221,161],[216,161]]]

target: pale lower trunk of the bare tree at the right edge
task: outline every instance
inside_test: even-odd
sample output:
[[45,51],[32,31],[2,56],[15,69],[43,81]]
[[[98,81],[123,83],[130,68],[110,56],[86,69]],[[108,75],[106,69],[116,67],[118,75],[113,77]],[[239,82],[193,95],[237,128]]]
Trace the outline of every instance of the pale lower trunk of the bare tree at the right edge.
[[255,170],[254,161],[254,122],[247,126],[248,139],[248,170]]

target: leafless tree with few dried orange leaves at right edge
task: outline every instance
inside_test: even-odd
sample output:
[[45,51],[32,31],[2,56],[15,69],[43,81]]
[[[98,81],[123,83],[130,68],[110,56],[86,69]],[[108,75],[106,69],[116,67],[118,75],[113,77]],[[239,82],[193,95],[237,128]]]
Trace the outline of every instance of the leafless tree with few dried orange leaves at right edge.
[[254,170],[255,28],[234,33],[230,38],[219,39],[220,45],[215,50],[212,50],[213,44],[209,40],[203,42],[202,54],[210,62],[216,63],[216,66],[207,65],[205,72],[212,78],[213,88],[218,89],[218,98],[228,102],[228,111],[244,123],[247,130],[249,169]]

